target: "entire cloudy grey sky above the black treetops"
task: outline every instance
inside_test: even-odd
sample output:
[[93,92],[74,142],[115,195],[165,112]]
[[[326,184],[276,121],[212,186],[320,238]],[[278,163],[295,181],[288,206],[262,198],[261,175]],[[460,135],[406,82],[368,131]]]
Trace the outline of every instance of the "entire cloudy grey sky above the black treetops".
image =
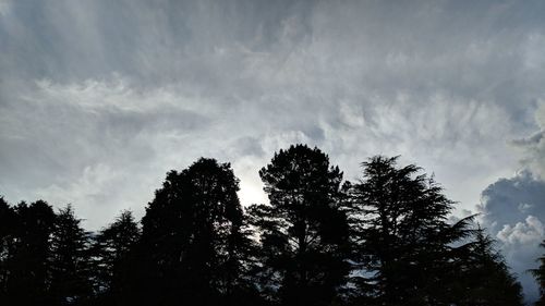
[[529,298],[545,231],[544,1],[0,0],[0,195],[143,216],[231,162],[243,205],[290,144],[360,178],[401,156],[481,213]]

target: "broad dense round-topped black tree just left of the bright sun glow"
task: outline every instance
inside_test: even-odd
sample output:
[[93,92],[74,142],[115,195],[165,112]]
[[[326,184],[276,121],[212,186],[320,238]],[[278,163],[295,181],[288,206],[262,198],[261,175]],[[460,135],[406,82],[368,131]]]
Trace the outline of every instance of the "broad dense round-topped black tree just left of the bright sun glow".
[[147,305],[220,305],[243,280],[243,211],[229,163],[199,159],[171,171],[142,220]]

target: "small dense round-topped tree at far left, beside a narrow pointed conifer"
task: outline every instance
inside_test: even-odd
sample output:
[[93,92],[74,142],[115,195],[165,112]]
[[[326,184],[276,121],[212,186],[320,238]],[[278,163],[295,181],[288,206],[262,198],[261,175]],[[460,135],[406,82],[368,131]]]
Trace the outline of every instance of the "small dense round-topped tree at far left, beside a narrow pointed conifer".
[[55,212],[47,203],[20,203],[12,216],[14,241],[8,255],[9,304],[44,305],[49,285],[50,238]]

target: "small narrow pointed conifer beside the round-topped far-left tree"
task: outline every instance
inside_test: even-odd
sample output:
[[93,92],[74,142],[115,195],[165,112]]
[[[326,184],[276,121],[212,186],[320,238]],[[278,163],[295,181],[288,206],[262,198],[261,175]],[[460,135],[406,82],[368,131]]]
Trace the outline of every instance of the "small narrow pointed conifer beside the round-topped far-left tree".
[[50,296],[53,305],[81,305],[93,296],[90,236],[69,205],[60,209],[51,238]]

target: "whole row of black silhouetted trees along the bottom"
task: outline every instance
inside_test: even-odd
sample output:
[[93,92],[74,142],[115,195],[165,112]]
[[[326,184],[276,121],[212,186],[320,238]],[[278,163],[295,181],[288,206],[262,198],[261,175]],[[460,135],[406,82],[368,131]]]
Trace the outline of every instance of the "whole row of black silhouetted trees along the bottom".
[[269,204],[243,208],[230,164],[201,158],[168,172],[140,222],[122,211],[95,233],[71,206],[0,198],[0,305],[523,305],[433,176],[397,157],[361,167],[343,181],[292,145],[259,170]]

